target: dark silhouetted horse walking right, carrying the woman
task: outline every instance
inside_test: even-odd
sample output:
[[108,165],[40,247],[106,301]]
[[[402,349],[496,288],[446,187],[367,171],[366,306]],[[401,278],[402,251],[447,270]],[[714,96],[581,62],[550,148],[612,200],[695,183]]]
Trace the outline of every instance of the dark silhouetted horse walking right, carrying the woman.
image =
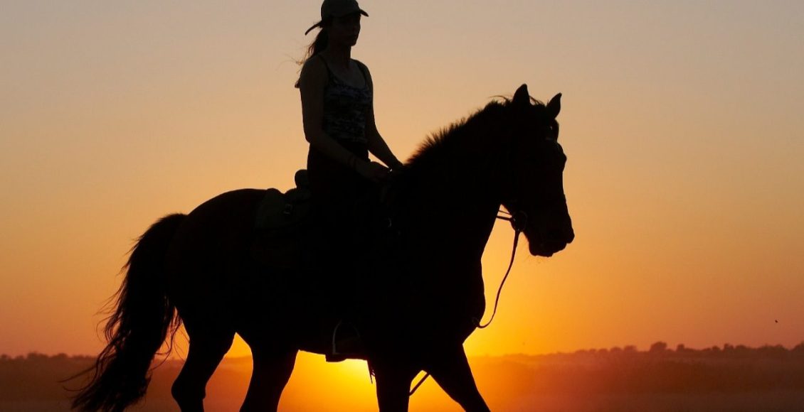
[[[498,211],[511,213],[531,255],[549,257],[575,236],[558,143],[560,97],[543,104],[523,84],[428,137],[390,183],[396,231],[375,244],[392,252],[352,285],[361,299],[361,358],[375,376],[380,411],[408,410],[421,371],[465,410],[489,410],[463,342],[486,309],[481,257]],[[245,411],[277,410],[299,350],[329,353],[320,333],[336,320],[326,267],[272,270],[249,252],[264,192],[220,194],[160,219],[138,239],[106,323],[108,345],[74,408],[138,402],[156,353],[180,324],[189,349],[171,394],[185,412],[203,410],[207,381],[236,333],[252,350]]]

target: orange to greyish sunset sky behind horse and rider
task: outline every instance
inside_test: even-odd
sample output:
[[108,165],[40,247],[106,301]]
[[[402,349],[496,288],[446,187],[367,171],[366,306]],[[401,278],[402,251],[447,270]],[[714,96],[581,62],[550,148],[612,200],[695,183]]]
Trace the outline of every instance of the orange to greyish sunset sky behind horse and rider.
[[[2,3],[0,353],[96,353],[96,312],[151,222],[291,185],[293,60],[319,5]],[[804,2],[361,6],[353,55],[400,158],[520,84],[564,93],[576,241],[522,247],[470,354],[804,341]],[[499,223],[487,300],[511,238]]]

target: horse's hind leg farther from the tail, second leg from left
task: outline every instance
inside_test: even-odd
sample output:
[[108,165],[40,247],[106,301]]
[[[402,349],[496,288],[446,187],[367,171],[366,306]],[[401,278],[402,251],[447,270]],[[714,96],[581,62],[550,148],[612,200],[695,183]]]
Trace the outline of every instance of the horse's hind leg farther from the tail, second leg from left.
[[296,363],[296,349],[260,349],[252,345],[254,369],[241,412],[277,410]]

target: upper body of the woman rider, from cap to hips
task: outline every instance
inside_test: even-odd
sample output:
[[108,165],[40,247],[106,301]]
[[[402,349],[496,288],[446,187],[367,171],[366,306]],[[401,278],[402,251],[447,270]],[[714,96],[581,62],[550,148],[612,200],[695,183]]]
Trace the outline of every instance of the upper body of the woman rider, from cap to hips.
[[310,186],[317,198],[343,198],[381,181],[388,169],[369,161],[368,153],[390,168],[401,166],[377,131],[371,73],[351,59],[361,15],[368,14],[355,0],[324,0],[321,21],[306,32],[321,28],[302,61],[297,83],[310,142]]

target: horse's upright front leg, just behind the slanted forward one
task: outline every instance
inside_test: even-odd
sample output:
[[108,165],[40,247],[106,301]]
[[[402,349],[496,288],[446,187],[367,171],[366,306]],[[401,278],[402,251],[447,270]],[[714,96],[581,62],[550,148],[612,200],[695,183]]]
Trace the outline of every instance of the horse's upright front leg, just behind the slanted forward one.
[[407,412],[410,382],[417,370],[400,361],[371,361],[377,379],[379,412]]

